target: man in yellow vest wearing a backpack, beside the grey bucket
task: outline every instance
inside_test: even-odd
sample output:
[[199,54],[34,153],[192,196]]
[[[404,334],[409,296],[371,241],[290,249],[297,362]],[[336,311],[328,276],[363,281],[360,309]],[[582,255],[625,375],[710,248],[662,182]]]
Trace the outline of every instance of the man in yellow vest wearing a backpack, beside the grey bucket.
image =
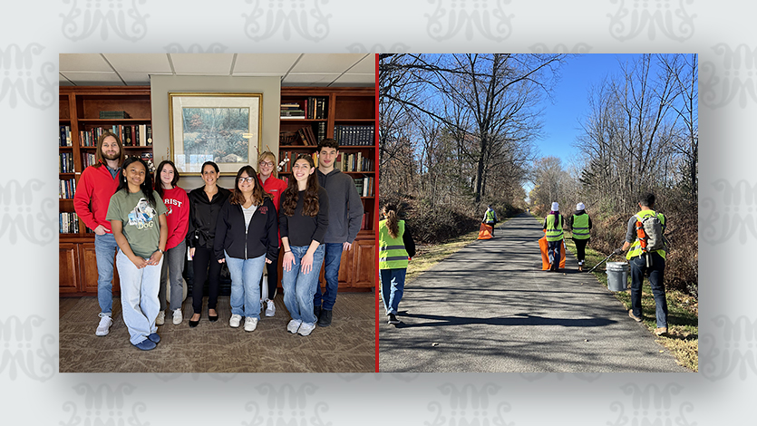
[[[666,247],[645,254],[637,234],[636,221],[656,216],[662,225],[663,232],[665,232],[665,215],[653,210],[655,208],[655,194],[651,192],[639,197],[638,205],[640,211],[628,219],[626,241],[623,243],[623,247],[616,249],[614,253],[619,255],[630,248],[626,254],[626,258],[631,264],[631,309],[628,311],[628,316],[636,322],[641,322],[644,319],[641,307],[641,286],[644,282],[644,276],[648,274],[649,286],[652,287],[652,295],[655,296],[657,322],[655,334],[664,335],[667,334],[667,300],[665,299],[664,282]],[[649,266],[647,266],[647,259],[645,258],[647,256],[651,257],[649,259],[651,265]]]

